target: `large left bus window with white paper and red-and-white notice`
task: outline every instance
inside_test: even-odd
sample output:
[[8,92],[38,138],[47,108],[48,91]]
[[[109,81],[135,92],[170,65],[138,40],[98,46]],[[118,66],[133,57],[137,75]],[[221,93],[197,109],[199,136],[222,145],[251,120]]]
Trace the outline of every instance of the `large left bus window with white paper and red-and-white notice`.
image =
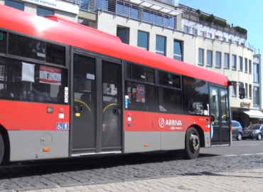
[[66,104],[68,73],[62,68],[0,58],[0,99]]

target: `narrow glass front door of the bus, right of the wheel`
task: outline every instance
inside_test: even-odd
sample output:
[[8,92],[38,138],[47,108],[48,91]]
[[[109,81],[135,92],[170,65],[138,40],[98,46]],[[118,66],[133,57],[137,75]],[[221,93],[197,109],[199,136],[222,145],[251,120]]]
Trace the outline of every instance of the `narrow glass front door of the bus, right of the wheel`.
[[230,144],[230,111],[226,87],[210,85],[212,145]]

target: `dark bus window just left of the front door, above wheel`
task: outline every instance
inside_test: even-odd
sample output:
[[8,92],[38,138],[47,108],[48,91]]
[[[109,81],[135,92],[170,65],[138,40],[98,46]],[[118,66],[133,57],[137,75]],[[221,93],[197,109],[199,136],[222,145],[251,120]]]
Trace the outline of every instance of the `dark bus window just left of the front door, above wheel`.
[[184,114],[208,115],[208,82],[183,77]]

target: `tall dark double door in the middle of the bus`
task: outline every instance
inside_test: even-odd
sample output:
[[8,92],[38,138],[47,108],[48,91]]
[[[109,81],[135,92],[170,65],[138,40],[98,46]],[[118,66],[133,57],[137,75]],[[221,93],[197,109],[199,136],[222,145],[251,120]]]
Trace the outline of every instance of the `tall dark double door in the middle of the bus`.
[[122,63],[83,50],[72,61],[70,154],[122,151]]

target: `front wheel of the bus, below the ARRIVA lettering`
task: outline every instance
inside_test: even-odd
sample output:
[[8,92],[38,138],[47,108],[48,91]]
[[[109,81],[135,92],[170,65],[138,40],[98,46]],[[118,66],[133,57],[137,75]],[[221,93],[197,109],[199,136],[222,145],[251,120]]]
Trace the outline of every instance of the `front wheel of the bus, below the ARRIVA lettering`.
[[186,131],[184,159],[196,159],[200,151],[200,137],[198,131],[194,127],[190,127]]

